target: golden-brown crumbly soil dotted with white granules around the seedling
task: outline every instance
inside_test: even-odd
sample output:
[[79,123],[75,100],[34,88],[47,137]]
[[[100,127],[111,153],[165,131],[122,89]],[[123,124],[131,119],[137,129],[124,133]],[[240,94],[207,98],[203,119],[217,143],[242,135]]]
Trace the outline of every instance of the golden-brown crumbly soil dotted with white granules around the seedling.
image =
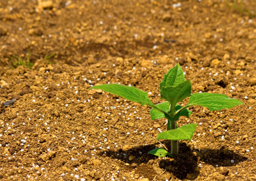
[[[1,1],[0,179],[256,180],[256,24],[235,2]],[[14,69],[11,56],[28,53],[32,68]],[[245,105],[190,107],[178,126],[199,123],[193,140],[180,141],[176,158],[156,158],[147,152],[161,147],[166,120],[88,89],[132,85],[157,104],[177,63],[193,93]]]

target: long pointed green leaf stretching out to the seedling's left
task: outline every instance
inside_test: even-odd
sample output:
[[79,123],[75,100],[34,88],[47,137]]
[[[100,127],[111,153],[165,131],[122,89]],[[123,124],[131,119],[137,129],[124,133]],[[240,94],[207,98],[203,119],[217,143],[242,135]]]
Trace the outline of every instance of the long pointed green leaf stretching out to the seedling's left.
[[147,92],[136,89],[132,86],[125,86],[120,84],[102,84],[91,87],[90,89],[101,89],[117,96],[124,97],[127,100],[140,103],[142,106],[154,106],[154,104],[152,104],[152,102],[150,101]]

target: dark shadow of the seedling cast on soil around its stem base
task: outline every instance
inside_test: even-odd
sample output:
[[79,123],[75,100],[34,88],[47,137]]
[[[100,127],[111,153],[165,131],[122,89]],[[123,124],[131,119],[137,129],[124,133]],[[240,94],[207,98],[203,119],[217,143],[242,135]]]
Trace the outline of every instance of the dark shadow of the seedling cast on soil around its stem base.
[[[169,147],[168,142],[166,142],[166,147]],[[125,163],[129,163],[131,168],[136,168],[141,165],[141,163],[154,163],[156,157],[148,153],[151,149],[154,149],[155,144],[150,144],[147,146],[139,146],[127,149],[126,151],[119,149],[118,151],[106,151],[106,153],[101,152],[100,155],[111,157],[114,159],[120,159]],[[159,162],[159,167],[164,169],[166,172],[172,173],[178,179],[189,179],[194,180],[198,177],[200,173],[200,168],[198,167],[199,159],[206,164],[211,164],[216,167],[230,167],[235,166],[239,162],[243,162],[247,157],[240,156],[234,151],[229,151],[227,148],[222,147],[221,149],[204,149],[202,151],[191,151],[191,149],[186,145],[186,143],[179,144],[179,156],[175,158],[161,159]],[[231,160],[234,163],[231,163]],[[223,173],[227,175],[228,173]]]

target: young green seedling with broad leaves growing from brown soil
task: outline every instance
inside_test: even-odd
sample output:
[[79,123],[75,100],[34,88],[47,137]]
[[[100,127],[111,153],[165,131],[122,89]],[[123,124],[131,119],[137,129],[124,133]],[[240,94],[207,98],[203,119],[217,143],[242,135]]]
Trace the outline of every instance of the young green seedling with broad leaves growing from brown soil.
[[[228,96],[222,94],[211,94],[207,92],[191,94],[190,80],[185,79],[185,75],[179,64],[173,69],[170,69],[160,83],[161,99],[166,100],[166,102],[160,104],[152,104],[147,92],[132,86],[103,84],[91,87],[90,89],[101,89],[124,97],[127,100],[140,103],[142,106],[147,105],[151,107],[151,120],[163,117],[167,118],[167,131],[159,133],[156,139],[170,140],[171,153],[164,148],[155,148],[149,152],[159,157],[165,157],[166,155],[175,157],[179,153],[178,141],[182,139],[191,141],[198,124],[192,123],[181,127],[176,125],[176,121],[179,120],[180,116],[189,117],[191,115],[192,112],[188,110],[188,107],[198,105],[208,107],[210,111],[214,111],[243,105],[243,102],[237,99],[230,99]],[[188,104],[180,106],[178,102],[183,101],[186,97],[190,97]]]

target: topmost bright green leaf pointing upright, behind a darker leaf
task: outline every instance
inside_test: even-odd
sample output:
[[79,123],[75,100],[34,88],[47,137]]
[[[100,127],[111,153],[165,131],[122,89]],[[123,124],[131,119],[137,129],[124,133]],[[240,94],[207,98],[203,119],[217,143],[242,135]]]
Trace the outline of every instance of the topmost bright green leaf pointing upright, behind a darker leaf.
[[163,81],[160,83],[160,90],[166,86],[176,86],[185,81],[185,75],[178,63],[173,69],[170,69],[167,74],[164,75]]

